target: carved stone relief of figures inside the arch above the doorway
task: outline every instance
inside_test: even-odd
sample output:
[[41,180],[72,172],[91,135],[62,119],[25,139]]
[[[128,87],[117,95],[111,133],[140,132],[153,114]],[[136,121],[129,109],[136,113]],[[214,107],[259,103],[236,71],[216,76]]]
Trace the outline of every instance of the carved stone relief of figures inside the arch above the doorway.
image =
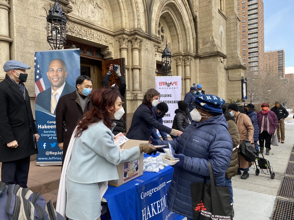
[[71,14],[106,28],[113,28],[113,18],[107,0],[70,0]]

